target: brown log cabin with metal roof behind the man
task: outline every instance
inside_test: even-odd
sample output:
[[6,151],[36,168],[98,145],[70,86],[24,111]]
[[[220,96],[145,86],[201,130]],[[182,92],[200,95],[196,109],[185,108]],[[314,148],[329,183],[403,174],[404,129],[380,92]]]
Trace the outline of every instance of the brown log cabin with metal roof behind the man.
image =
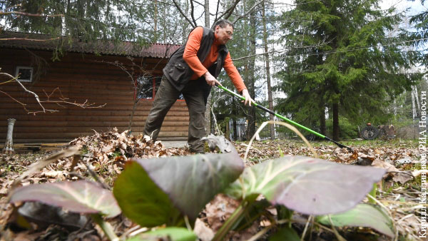
[[[58,43],[62,48],[56,58]],[[14,143],[68,142],[113,128],[121,132],[128,130],[131,116],[131,131],[138,135],[162,69],[177,48],[0,32],[0,73],[10,75],[0,75],[0,143],[6,140],[9,118],[16,119]],[[11,76],[18,76],[28,91],[9,81]],[[39,96],[40,103],[29,91]],[[188,123],[188,108],[179,99],[166,116],[159,139],[187,139]]]

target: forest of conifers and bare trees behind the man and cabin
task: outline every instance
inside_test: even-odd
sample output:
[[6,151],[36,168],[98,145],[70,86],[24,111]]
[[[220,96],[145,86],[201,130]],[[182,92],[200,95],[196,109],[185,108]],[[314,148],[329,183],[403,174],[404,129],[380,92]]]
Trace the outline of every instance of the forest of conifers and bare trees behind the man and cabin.
[[[66,36],[53,53],[61,61],[74,38],[183,44],[195,26],[229,19],[235,32],[228,48],[256,101],[335,140],[357,138],[366,123],[392,124],[399,137],[416,138],[419,96],[428,86],[427,6],[387,2],[5,0],[0,31]],[[225,73],[219,78],[233,88]],[[240,120],[251,137],[273,118],[217,89],[206,116],[212,130],[233,123],[235,140]],[[272,125],[261,135],[291,133]]]

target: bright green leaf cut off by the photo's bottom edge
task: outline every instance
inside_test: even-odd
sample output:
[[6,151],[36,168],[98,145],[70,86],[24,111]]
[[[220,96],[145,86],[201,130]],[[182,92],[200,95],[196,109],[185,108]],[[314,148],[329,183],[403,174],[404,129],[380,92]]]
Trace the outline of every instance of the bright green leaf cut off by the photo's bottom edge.
[[145,232],[127,241],[148,241],[148,240],[172,240],[172,241],[195,241],[198,236],[194,232],[184,227],[166,227],[161,230]]

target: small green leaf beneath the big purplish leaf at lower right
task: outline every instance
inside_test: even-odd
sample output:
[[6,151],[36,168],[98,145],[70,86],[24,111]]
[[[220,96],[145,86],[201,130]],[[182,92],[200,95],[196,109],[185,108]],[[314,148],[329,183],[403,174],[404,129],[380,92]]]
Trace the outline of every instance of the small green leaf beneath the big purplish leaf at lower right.
[[[330,215],[330,217],[332,224],[337,227],[371,227],[384,235],[394,237],[392,220],[382,210],[373,205],[362,203],[347,212]],[[327,215],[317,217],[317,221],[324,225],[331,225]]]

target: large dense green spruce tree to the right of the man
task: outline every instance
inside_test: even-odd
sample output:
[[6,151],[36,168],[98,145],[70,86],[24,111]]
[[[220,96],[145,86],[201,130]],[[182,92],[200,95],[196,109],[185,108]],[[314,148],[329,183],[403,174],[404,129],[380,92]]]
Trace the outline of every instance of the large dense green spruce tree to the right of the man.
[[[352,123],[381,120],[384,109],[417,75],[401,73],[415,61],[399,36],[389,36],[403,18],[379,10],[378,0],[297,0],[282,15],[283,56],[280,88],[287,98],[280,111],[302,123],[321,125],[325,108],[339,139],[339,116]],[[384,119],[385,120],[385,119]]]

